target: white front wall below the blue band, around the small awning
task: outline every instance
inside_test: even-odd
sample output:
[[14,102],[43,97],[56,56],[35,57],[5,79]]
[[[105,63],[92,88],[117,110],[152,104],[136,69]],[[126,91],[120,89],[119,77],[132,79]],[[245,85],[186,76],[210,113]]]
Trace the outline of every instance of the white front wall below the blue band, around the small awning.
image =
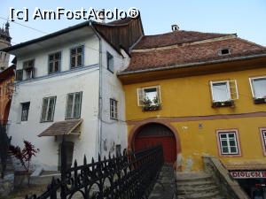
[[[10,126],[8,134],[12,135],[12,144],[20,145],[23,140],[35,144],[40,153],[35,157],[35,164],[44,165],[46,169],[57,169],[59,163],[59,142],[54,137],[38,137],[53,122],[40,123],[43,97],[57,96],[54,121],[65,120],[66,95],[82,91],[82,134],[80,137],[68,137],[74,141],[74,158],[82,164],[84,154],[88,158],[97,154],[98,132],[98,67],[68,73],[59,77],[21,83],[17,86],[12,99]],[[30,102],[27,121],[20,121],[21,104]]]

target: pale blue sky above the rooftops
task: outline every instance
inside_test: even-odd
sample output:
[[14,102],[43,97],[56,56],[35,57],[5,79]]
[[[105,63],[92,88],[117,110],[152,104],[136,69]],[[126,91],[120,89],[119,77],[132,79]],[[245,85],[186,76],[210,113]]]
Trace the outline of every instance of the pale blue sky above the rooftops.
[[1,26],[4,19],[9,17],[11,7],[17,11],[26,7],[30,13],[27,22],[18,19],[15,23],[11,22],[12,44],[26,42],[84,21],[32,19],[31,13],[36,7],[55,11],[57,7],[70,10],[82,7],[86,10],[90,7],[128,10],[136,7],[141,13],[145,34],[167,33],[171,31],[172,24],[177,24],[181,30],[238,34],[243,39],[266,46],[266,0],[1,0]]

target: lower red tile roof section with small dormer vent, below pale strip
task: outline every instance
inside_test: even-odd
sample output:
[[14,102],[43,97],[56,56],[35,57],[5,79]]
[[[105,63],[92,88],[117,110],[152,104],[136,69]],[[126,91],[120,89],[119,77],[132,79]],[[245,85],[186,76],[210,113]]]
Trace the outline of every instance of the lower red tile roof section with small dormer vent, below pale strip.
[[[167,36],[168,37],[168,36]],[[162,42],[167,39],[160,37],[161,40],[157,41],[154,46],[162,46]],[[198,38],[199,39],[199,38]],[[189,39],[187,38],[186,41]],[[149,46],[147,42],[144,44],[138,43],[137,48],[140,46]],[[177,42],[182,42],[180,39]],[[184,42],[184,40],[183,40]],[[168,46],[159,49],[137,49],[134,48],[131,52],[131,60],[129,67],[122,73],[142,71],[149,69],[156,69],[167,66],[178,66],[186,64],[196,64],[207,61],[233,58],[233,57],[246,57],[252,55],[266,54],[266,48],[253,42],[248,42],[239,39],[236,36],[224,38],[223,40],[202,41],[195,43],[184,43],[175,46]],[[160,44],[158,44],[160,43]],[[166,42],[168,45],[173,43]],[[175,42],[174,42],[175,43]],[[230,55],[219,55],[219,50],[226,48],[230,49]],[[137,50],[136,50],[137,49]]]

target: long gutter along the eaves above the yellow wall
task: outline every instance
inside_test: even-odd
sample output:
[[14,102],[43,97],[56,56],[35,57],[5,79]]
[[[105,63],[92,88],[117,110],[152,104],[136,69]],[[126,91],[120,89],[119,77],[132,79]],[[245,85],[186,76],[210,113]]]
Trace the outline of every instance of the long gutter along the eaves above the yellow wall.
[[221,64],[224,62],[242,61],[242,60],[260,58],[260,57],[266,57],[266,54],[246,56],[246,57],[223,58],[223,59],[219,59],[219,60],[206,61],[206,62],[196,62],[196,63],[184,64],[184,65],[170,65],[170,66],[165,66],[165,67],[150,68],[150,69],[144,69],[144,70],[138,70],[138,71],[129,71],[129,72],[126,71],[126,72],[117,73],[117,76],[136,74],[136,73],[167,71],[167,70],[176,69],[176,68],[186,68],[186,67],[193,67],[193,66],[200,66],[200,65]]

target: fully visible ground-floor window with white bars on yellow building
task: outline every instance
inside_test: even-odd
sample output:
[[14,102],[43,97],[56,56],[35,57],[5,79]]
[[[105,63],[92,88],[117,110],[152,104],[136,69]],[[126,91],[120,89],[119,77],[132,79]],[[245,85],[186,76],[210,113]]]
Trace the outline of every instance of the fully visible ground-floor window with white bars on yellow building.
[[240,155],[237,130],[218,131],[221,155]]

